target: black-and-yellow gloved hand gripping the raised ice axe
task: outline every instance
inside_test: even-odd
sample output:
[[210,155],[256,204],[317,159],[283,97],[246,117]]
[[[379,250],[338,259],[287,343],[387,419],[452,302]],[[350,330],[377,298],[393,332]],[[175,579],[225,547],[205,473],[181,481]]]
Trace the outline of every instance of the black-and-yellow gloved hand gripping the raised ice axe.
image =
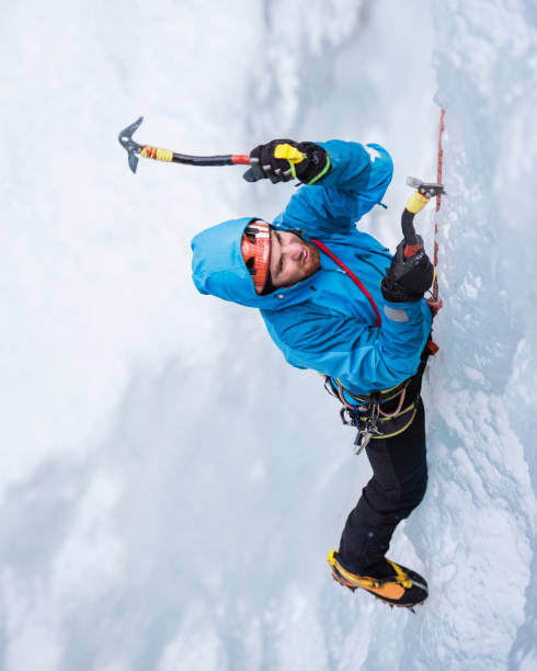
[[276,182],[300,180],[313,184],[330,170],[330,157],[315,143],[275,139],[258,145],[250,152],[251,168],[242,175],[247,182],[270,179]]

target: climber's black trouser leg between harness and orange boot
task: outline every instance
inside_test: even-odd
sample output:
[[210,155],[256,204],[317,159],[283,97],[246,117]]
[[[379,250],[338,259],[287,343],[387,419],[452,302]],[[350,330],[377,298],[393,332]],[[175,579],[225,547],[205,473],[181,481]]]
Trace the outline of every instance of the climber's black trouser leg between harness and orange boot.
[[412,424],[399,435],[375,439],[366,447],[373,478],[347,518],[339,555],[353,572],[364,572],[388,551],[401,520],[416,508],[427,488],[425,412],[421,398]]

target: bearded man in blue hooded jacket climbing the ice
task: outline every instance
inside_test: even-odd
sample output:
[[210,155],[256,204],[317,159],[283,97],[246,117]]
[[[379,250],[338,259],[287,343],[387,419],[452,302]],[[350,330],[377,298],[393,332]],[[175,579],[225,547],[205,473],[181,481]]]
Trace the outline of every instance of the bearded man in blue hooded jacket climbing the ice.
[[[333,577],[412,607],[426,599],[426,582],[386,553],[426,488],[420,387],[431,262],[420,244],[407,253],[401,243],[392,258],[356,229],[391,181],[391,159],[379,145],[276,139],[250,159],[248,181],[295,178],[304,186],[272,225],[243,217],[198,234],[194,282],[203,294],[259,308],[285,359],[325,376],[373,467],[339,550],[329,554]],[[427,200],[414,193],[407,224]]]

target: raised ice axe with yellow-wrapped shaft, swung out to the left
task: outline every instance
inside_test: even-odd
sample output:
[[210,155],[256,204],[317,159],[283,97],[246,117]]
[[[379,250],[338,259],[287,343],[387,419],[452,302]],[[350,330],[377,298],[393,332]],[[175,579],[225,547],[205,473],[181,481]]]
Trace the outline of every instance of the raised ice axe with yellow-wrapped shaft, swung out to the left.
[[155,161],[165,163],[183,163],[185,166],[250,166],[250,157],[243,153],[228,153],[225,156],[190,156],[188,153],[176,153],[171,149],[152,147],[151,145],[139,145],[133,139],[133,135],[144,121],[140,116],[134,124],[124,128],[118,136],[119,144],[128,153],[128,166],[133,172],[138,167],[138,155]]

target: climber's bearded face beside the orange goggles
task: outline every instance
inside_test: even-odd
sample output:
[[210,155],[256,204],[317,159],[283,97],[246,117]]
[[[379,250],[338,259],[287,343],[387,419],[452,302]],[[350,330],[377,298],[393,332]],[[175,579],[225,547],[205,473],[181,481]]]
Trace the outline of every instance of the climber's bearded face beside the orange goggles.
[[271,281],[274,286],[293,286],[319,270],[319,250],[297,235],[271,229]]

